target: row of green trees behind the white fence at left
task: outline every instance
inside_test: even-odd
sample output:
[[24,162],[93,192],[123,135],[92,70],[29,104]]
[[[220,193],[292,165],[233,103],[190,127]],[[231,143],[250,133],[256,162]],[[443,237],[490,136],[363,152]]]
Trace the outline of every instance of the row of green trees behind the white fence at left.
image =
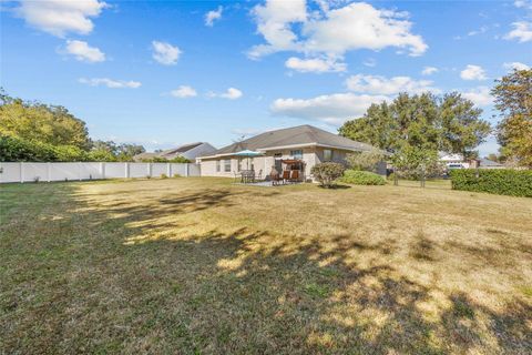
[[92,140],[85,122],[64,106],[0,90],[0,161],[126,162],[143,152],[139,144]]

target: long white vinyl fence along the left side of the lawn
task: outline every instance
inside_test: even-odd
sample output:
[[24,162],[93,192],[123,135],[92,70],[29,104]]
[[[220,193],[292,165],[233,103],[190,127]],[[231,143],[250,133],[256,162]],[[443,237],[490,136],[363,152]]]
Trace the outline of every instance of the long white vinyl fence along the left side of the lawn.
[[182,163],[0,163],[0,183],[127,178],[200,176],[198,164]]

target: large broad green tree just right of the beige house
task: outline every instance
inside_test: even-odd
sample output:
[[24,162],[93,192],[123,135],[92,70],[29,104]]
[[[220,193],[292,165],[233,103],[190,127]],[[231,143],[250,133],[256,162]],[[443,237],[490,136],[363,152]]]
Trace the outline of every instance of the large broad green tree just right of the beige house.
[[399,94],[393,102],[372,104],[362,118],[347,121],[340,135],[388,151],[417,148],[471,155],[490,133],[482,110],[459,93]]

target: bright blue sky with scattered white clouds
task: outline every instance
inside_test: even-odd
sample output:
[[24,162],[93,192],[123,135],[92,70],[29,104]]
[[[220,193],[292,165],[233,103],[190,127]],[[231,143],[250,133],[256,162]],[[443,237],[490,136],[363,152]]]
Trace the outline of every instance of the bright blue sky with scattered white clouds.
[[[310,123],[532,65],[532,1],[1,1],[0,83],[147,149]],[[497,151],[493,139],[480,148]]]

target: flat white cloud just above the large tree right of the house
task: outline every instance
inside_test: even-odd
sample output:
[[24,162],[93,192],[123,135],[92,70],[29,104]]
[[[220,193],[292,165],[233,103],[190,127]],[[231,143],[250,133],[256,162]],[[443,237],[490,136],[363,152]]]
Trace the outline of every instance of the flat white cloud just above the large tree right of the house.
[[413,80],[410,77],[385,78],[380,75],[357,74],[346,80],[346,85],[355,92],[365,92],[370,94],[391,95],[399,92],[422,93],[431,91],[434,93],[440,90],[432,88],[430,80]]

